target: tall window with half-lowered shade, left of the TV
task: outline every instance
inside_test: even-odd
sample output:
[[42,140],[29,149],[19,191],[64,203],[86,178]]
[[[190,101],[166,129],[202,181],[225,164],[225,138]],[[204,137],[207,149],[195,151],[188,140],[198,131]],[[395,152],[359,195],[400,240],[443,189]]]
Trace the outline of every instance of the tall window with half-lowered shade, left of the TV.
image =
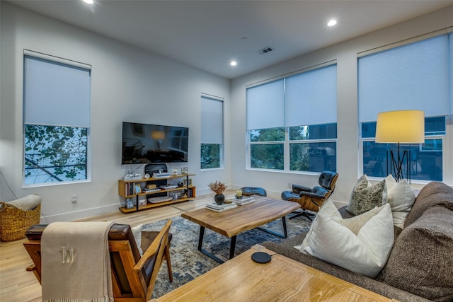
[[24,185],[88,180],[90,73],[25,51]]

